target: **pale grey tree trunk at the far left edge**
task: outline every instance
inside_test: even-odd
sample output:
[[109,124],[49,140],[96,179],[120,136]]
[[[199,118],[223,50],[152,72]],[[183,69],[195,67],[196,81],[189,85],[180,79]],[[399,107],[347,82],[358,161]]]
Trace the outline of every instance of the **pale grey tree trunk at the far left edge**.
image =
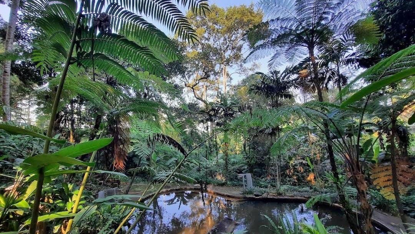
[[[13,50],[13,40],[15,37],[17,10],[19,9],[20,0],[12,0],[10,7],[9,23],[7,25],[6,41],[4,45],[5,53],[10,54]],[[12,61],[7,59],[3,62],[2,77],[2,105],[5,107],[3,121],[10,121],[12,114],[10,111],[10,67]]]

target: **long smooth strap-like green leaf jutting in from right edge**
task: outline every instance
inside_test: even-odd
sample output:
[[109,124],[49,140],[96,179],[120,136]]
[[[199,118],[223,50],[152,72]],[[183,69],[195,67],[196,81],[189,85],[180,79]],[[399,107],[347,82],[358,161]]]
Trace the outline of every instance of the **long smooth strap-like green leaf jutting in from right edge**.
[[415,67],[411,67],[408,69],[405,69],[403,71],[400,71],[396,74],[393,74],[391,76],[388,76],[384,79],[378,80],[373,82],[372,84],[369,84],[368,86],[360,89],[355,94],[353,94],[351,97],[346,99],[341,107],[346,107],[356,101],[359,101],[364,96],[367,96],[375,91],[378,91],[379,89],[382,89],[383,87],[387,86],[388,84],[392,84],[394,82],[400,81],[402,79],[405,79],[409,76],[413,76],[415,74]]

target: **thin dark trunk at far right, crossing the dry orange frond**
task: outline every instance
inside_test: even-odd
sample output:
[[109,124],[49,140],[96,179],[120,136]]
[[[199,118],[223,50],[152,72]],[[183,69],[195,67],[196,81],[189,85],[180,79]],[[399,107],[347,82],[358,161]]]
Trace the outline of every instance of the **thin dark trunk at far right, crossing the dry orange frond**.
[[396,155],[398,154],[398,150],[396,150],[395,146],[395,135],[396,135],[396,118],[391,117],[392,121],[392,129],[391,129],[391,167],[392,167],[392,186],[393,186],[393,194],[395,195],[396,200],[396,206],[398,207],[398,212],[400,219],[402,220],[405,228],[407,229],[407,232],[410,233],[410,230],[408,230],[408,227],[406,223],[408,223],[408,219],[405,216],[405,213],[403,212],[403,205],[400,200],[400,194],[399,194],[399,188],[398,188],[398,172],[396,168],[398,167],[398,164],[396,163]]

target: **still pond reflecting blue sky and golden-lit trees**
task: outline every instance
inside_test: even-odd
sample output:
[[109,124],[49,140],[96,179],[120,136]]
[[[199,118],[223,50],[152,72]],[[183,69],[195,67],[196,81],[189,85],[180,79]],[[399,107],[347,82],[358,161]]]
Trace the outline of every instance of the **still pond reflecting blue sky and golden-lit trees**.
[[[206,193],[203,196],[205,204],[200,192],[160,195],[151,206],[154,211],[147,211],[132,233],[206,234],[217,222],[229,217],[238,223],[236,231],[245,229],[249,234],[265,234],[269,230],[262,225],[270,226],[270,223],[261,214],[268,215],[274,221],[283,214],[292,221],[292,212],[299,221],[308,224],[314,222],[313,214],[319,214],[326,227],[336,227],[336,231],[342,234],[351,233],[342,211],[332,207],[307,209],[305,204],[297,202],[232,201]],[[132,222],[134,219],[130,220]]]

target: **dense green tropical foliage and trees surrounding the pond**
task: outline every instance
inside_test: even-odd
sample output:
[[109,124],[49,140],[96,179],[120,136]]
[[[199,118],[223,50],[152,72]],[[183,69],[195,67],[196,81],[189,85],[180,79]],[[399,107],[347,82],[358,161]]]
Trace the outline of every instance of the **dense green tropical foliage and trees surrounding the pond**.
[[355,234],[375,209],[415,218],[412,1],[22,2],[1,57],[1,232],[130,233],[167,184],[336,202]]

